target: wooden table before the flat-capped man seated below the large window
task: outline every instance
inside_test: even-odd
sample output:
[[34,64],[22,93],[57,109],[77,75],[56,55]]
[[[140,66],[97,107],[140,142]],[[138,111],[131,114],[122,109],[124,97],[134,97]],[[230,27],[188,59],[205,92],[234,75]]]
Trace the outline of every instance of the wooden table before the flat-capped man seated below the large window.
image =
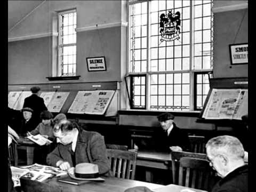
[[[172,177],[172,158],[170,153],[148,150],[138,151],[136,165],[162,170],[170,170],[170,178]],[[153,174],[150,171],[146,171],[146,181],[152,182],[152,180]]]

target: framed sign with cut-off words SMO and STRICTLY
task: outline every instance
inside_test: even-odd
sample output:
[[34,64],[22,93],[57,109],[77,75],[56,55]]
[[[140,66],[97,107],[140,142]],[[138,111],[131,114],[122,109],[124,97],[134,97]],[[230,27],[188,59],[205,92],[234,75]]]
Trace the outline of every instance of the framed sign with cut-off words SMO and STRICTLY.
[[248,43],[229,45],[231,65],[248,64]]

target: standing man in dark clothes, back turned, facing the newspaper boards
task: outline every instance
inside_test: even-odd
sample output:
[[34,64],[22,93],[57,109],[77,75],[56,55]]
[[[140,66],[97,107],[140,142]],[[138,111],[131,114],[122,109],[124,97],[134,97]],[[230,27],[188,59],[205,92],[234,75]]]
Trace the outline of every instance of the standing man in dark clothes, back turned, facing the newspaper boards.
[[41,122],[40,113],[44,110],[47,110],[47,107],[44,104],[44,99],[38,96],[40,87],[34,86],[31,87],[30,90],[32,94],[29,97],[25,98],[23,108],[29,107],[33,109],[35,122],[39,124]]

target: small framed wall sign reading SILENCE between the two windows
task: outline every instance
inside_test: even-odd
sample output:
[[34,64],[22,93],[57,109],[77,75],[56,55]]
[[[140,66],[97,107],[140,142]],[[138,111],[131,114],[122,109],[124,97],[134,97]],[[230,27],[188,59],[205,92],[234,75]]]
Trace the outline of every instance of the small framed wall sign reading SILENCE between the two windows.
[[88,71],[106,71],[105,57],[86,58]]

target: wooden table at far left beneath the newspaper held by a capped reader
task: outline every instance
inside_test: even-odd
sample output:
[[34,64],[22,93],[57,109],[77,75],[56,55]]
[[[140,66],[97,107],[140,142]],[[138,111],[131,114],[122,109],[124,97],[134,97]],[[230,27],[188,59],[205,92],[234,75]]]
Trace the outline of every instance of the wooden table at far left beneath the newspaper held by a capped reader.
[[25,149],[27,151],[27,165],[33,164],[34,161],[34,149],[38,147],[38,145],[31,141],[28,138],[20,136],[18,140],[17,149]]

